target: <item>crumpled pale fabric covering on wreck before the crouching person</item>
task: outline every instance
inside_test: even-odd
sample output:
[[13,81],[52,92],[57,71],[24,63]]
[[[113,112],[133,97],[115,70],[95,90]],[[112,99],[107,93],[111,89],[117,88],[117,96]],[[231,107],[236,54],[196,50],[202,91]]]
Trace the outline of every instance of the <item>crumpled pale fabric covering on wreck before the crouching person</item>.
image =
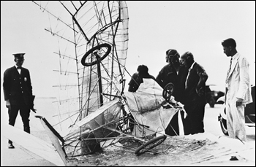
[[[146,126],[135,125],[133,131],[135,136],[143,137],[153,133],[165,131],[173,115],[179,109],[165,109],[162,105],[166,104],[162,97],[162,88],[154,79],[144,79],[135,93],[124,93],[127,104],[136,123]],[[173,98],[173,97],[172,97]]]

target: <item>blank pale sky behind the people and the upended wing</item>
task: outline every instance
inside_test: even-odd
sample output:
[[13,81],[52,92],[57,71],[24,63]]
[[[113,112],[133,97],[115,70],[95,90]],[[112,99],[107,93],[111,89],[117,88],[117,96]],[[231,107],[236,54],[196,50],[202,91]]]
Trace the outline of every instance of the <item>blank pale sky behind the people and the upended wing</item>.
[[[231,37],[249,60],[255,85],[255,1],[127,1],[127,6],[130,74],[144,64],[157,77],[166,64],[165,51],[172,48],[180,55],[193,53],[206,69],[207,84],[224,90],[230,58],[221,42]],[[45,31],[48,25],[48,15],[32,1],[1,1],[1,89],[4,70],[15,63],[12,54],[26,53],[23,67],[30,70],[34,95],[54,96],[52,74],[58,64],[53,52],[58,48]]]

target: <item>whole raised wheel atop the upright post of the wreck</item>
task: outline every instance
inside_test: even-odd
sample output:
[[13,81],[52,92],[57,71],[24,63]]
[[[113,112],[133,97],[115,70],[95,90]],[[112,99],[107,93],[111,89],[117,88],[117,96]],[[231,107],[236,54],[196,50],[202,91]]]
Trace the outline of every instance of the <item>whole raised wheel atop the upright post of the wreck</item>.
[[[103,47],[107,47],[108,50],[107,50],[107,51],[103,50],[103,49],[102,49]],[[92,47],[91,50],[89,50],[86,54],[83,55],[83,58],[82,58],[82,60],[81,60],[81,63],[83,64],[83,66],[93,66],[94,64],[97,63],[98,58],[97,58],[97,56],[94,54],[94,51],[95,51],[95,50],[98,50],[97,53],[98,53],[98,52],[99,52],[99,53],[104,53],[104,52],[105,52],[105,54],[102,55],[102,57],[99,57],[99,61],[102,61],[102,60],[103,60],[104,58],[106,58],[107,55],[110,53],[110,51],[111,51],[111,46],[110,46],[110,44],[99,44],[99,45],[97,45],[96,47]],[[90,60],[91,62],[86,63],[86,58],[87,58],[89,55],[91,55],[91,57],[89,57],[88,60]],[[99,55],[99,54],[97,54],[97,55]],[[94,57],[95,57],[95,58],[94,58]]]

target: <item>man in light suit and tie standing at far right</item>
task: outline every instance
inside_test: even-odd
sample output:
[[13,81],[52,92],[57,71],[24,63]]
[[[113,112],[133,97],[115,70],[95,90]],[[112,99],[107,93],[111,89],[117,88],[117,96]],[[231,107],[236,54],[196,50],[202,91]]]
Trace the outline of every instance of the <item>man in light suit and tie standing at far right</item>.
[[231,138],[246,141],[244,107],[252,103],[249,81],[249,63],[236,50],[234,39],[222,41],[222,47],[227,57],[231,57],[230,68],[226,78],[226,114],[227,132]]

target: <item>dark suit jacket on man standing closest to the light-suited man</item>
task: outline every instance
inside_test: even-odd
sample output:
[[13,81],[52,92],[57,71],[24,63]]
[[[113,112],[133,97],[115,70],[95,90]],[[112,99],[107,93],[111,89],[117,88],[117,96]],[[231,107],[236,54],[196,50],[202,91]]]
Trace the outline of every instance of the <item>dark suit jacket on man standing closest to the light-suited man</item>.
[[[206,80],[208,79],[206,71],[198,63],[195,63],[188,75],[187,88],[184,90],[185,103],[201,102],[206,104]],[[203,96],[198,96],[196,89],[200,90]]]

